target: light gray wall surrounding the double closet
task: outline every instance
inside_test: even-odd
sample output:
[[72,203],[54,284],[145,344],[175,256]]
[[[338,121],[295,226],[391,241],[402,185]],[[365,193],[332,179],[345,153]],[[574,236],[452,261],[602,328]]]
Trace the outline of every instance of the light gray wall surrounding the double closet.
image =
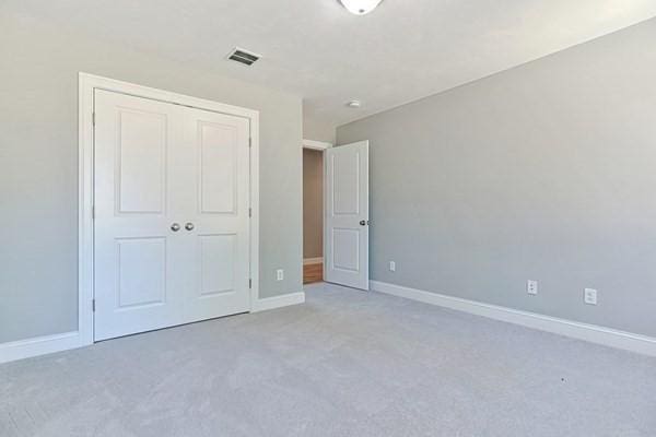
[[27,19],[0,28],[0,342],[77,329],[79,71],[258,109],[260,296],[302,290],[300,97]]

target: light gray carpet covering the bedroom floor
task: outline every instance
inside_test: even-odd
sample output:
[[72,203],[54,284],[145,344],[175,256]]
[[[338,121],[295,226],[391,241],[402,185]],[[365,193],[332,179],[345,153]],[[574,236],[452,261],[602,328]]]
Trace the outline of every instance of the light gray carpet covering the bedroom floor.
[[0,366],[0,436],[656,436],[656,359],[375,293]]

